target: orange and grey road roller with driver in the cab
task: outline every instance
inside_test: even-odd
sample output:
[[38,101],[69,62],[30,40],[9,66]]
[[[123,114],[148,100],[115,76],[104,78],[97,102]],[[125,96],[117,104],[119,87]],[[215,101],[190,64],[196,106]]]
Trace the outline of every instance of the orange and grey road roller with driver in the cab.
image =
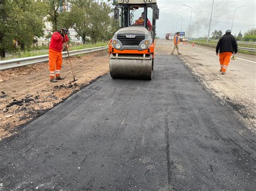
[[156,0],[116,1],[114,19],[120,29],[109,41],[113,79],[152,79],[158,18]]

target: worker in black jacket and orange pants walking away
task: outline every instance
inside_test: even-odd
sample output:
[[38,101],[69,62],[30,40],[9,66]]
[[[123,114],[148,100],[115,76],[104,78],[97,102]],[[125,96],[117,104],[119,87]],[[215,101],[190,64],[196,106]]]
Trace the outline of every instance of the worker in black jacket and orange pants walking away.
[[222,36],[216,46],[216,55],[219,56],[220,61],[220,72],[225,74],[228,63],[232,54],[237,54],[238,45],[234,36],[231,34],[231,30],[227,30],[226,34]]

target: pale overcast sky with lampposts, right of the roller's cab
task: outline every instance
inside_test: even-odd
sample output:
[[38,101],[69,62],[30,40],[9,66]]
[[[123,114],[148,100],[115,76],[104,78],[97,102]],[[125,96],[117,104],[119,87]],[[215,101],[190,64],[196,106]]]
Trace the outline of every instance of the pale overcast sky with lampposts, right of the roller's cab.
[[[191,35],[192,37],[205,37],[208,34],[210,23],[212,0],[158,0],[160,18],[157,21],[157,36],[164,38],[165,33],[181,29],[181,17],[183,16],[182,30],[188,34],[191,9],[184,6],[186,4],[193,8]],[[235,12],[232,34],[242,34],[249,29],[255,28],[255,0],[214,0],[211,33],[214,30],[221,30],[223,33],[231,29],[234,9],[238,6],[246,5]]]

